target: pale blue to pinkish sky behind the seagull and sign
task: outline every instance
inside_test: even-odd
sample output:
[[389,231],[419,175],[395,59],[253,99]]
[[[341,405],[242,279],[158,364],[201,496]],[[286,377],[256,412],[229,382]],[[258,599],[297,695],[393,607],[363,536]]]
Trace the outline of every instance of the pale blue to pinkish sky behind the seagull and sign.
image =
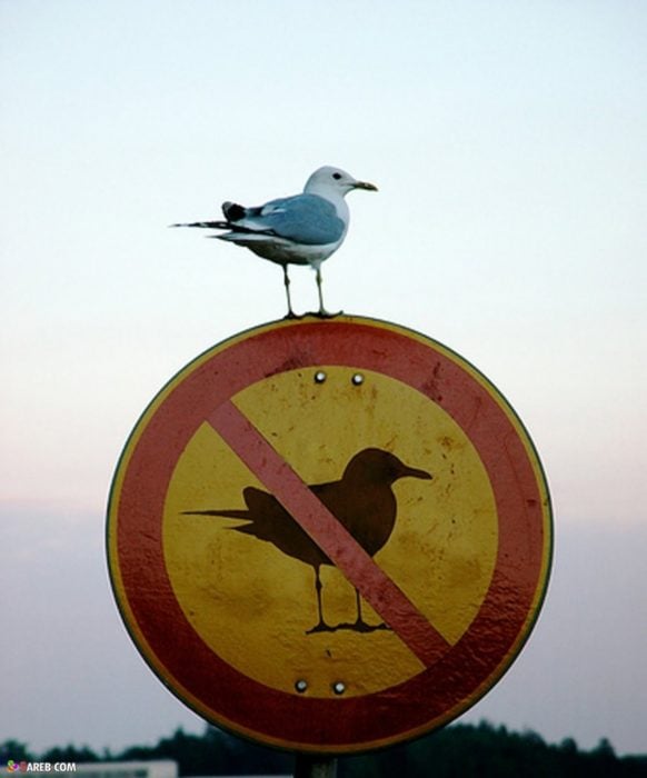
[[201,731],[121,626],[106,500],[161,386],[283,290],[167,225],[336,164],[380,191],[327,303],[476,365],[551,488],[546,606],[465,720],[647,751],[646,33],[638,0],[0,0],[0,739]]

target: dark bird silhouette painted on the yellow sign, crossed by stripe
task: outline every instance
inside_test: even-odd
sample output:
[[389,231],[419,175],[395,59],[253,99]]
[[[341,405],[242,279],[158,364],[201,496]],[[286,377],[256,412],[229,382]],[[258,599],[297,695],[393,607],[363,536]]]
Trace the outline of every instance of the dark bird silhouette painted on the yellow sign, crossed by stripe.
[[[357,542],[371,557],[388,541],[397,517],[397,500],[391,489],[400,478],[429,480],[426,470],[408,467],[398,457],[378,448],[366,448],[356,453],[338,481],[310,486],[337,520],[350,532]],[[247,523],[228,527],[237,532],[251,535],[258,540],[272,543],[289,557],[312,567],[319,620],[310,632],[334,631],[340,628],[356,631],[387,629],[386,625],[369,625],[361,614],[361,600],[356,589],[357,618],[354,624],[328,625],[321,605],[322,565],[332,565],[327,555],[317,546],[301,526],[290,516],[272,495],[246,487],[242,490],[246,508],[186,510],[185,515],[215,516],[228,519],[243,519]]]

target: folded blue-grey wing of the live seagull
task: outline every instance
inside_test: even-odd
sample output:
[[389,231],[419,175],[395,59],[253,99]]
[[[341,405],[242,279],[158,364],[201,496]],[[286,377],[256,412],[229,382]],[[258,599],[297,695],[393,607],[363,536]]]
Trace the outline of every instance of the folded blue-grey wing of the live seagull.
[[263,232],[307,246],[326,246],[341,239],[346,223],[335,206],[317,194],[270,200],[259,208],[246,208],[245,216],[230,221],[236,232]]

